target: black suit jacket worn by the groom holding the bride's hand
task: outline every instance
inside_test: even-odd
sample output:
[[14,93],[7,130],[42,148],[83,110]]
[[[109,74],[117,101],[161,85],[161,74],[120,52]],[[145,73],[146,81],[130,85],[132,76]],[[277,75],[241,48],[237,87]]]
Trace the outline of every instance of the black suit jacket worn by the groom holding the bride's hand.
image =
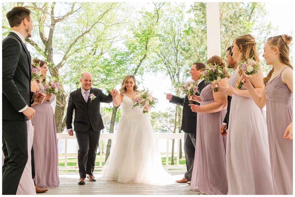
[[86,132],[92,126],[94,131],[100,131],[104,128],[104,123],[100,115],[100,103],[111,103],[112,95],[106,96],[100,89],[91,88],[90,94],[96,98],[90,102],[85,102],[81,94],[81,88],[70,93],[68,109],[66,115],[67,129],[72,128],[73,110],[75,109],[74,131]]

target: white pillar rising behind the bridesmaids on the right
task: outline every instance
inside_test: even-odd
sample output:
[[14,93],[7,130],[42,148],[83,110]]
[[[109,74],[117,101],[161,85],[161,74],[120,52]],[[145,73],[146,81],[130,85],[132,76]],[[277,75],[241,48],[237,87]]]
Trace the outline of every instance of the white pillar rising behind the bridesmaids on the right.
[[220,56],[219,2],[206,3],[207,57]]

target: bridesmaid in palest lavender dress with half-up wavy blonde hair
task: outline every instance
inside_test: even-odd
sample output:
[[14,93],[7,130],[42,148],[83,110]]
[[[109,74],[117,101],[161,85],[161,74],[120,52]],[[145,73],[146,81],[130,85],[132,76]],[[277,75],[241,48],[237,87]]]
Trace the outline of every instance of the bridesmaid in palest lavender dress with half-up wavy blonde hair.
[[[250,34],[234,40],[232,53],[237,62],[252,56],[259,62],[255,39]],[[226,90],[232,94],[226,147],[227,194],[273,194],[265,119],[246,87],[236,89],[240,72],[237,78],[231,78]],[[251,86],[259,94],[263,90],[262,80],[260,68],[258,76],[250,78]]]

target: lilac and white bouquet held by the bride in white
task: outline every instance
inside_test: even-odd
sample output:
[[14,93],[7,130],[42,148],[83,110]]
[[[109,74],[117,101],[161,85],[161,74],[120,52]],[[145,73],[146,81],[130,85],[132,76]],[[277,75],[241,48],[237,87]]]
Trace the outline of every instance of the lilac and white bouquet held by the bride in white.
[[133,103],[134,105],[132,106],[132,109],[135,108],[136,106],[140,106],[143,108],[143,113],[148,113],[148,108],[151,108],[155,103],[157,103],[158,99],[155,99],[148,90],[141,90],[139,91],[134,99]]

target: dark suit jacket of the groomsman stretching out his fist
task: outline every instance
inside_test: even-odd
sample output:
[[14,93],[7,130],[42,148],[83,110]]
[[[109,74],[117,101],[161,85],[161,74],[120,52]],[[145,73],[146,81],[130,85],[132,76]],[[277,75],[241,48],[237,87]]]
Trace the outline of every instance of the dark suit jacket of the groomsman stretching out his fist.
[[[205,81],[201,81],[198,84],[200,92],[197,92],[196,95],[200,96],[202,89],[207,86],[209,83],[205,83]],[[189,106],[189,99],[187,95],[184,98],[180,98],[178,96],[172,96],[170,103],[177,104],[183,106],[182,110],[182,121],[181,121],[181,130],[184,133],[193,133],[196,134],[197,129],[197,113],[191,111],[191,107]],[[193,104],[200,105],[200,103],[193,101]]]

